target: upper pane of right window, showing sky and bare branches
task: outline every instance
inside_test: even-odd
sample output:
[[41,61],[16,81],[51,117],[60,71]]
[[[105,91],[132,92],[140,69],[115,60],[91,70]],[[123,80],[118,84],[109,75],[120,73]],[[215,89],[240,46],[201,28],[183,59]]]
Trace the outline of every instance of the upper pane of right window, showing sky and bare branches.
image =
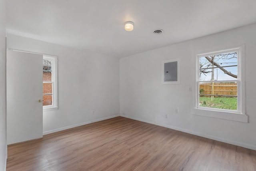
[[199,58],[200,81],[237,80],[237,52]]

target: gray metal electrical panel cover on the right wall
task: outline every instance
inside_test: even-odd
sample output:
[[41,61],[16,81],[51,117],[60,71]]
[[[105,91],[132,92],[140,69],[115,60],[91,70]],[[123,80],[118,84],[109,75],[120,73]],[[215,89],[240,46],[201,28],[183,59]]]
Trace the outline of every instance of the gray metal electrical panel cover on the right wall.
[[164,81],[165,82],[176,82],[178,79],[178,62],[164,63]]

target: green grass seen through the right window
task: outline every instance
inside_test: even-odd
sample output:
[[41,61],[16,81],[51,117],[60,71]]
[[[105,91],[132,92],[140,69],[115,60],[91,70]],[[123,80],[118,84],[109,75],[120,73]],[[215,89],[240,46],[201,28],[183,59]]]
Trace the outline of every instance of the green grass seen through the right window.
[[219,109],[237,109],[237,98],[232,97],[199,97],[200,106]]

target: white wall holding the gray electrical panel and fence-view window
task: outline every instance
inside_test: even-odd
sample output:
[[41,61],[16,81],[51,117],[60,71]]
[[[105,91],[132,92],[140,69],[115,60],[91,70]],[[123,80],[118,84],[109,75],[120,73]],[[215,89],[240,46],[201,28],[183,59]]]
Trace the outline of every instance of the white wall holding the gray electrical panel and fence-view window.
[[[120,114],[256,150],[256,24],[120,59]],[[188,30],[189,31],[189,30]],[[193,115],[196,54],[245,45],[249,123]],[[180,58],[180,84],[161,84],[161,62]],[[193,91],[188,91],[189,87]],[[175,108],[178,113],[175,113]],[[164,115],[168,114],[165,119]]]

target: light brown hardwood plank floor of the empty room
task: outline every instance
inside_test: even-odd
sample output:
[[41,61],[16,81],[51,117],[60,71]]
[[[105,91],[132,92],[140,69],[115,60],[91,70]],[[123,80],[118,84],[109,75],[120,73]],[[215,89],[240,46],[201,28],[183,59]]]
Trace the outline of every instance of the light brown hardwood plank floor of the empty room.
[[256,151],[124,117],[8,146],[7,171],[256,171]]

